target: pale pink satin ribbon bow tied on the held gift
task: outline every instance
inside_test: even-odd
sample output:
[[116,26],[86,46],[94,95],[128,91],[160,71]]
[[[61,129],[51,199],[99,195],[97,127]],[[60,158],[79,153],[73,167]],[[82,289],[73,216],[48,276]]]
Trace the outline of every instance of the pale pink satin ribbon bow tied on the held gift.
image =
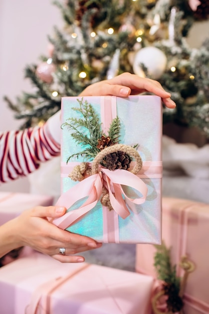
[[[135,189],[142,196],[135,199],[129,198],[124,192],[123,185]],[[145,202],[147,186],[140,178],[127,170],[110,171],[102,168],[98,174],[84,179],[61,195],[56,205],[67,209],[85,197],[88,199],[78,209],[67,212],[64,216],[55,219],[53,223],[61,229],[66,229],[76,223],[95,207],[102,195],[103,186],[108,190],[112,208],[123,219],[130,215],[126,202],[130,208],[133,208],[134,204]]]

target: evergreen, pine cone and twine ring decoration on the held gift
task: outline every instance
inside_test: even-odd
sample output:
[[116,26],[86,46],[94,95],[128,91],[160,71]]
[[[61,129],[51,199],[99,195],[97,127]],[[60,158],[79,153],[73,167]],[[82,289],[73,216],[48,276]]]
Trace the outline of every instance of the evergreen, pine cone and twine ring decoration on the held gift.
[[[87,100],[83,101],[83,98],[77,99],[77,101],[79,107],[73,107],[72,110],[82,117],[68,118],[62,124],[62,128],[67,127],[71,131],[71,136],[75,143],[83,148],[83,150],[71,154],[67,159],[67,163],[73,157],[78,158],[79,155],[84,158],[84,161],[73,167],[68,177],[73,181],[82,181],[87,179],[88,176],[99,174],[100,179],[102,179],[104,168],[108,171],[128,170],[132,158],[135,160],[135,165],[130,172],[133,175],[137,175],[142,168],[142,159],[135,149],[137,145],[132,147],[119,143],[120,119],[116,116],[110,123],[107,134],[104,134],[102,123],[93,106]],[[92,163],[90,164],[89,162]],[[123,175],[123,172],[120,172],[120,174]],[[114,210],[109,197],[108,185],[102,185],[100,202],[109,211]]]

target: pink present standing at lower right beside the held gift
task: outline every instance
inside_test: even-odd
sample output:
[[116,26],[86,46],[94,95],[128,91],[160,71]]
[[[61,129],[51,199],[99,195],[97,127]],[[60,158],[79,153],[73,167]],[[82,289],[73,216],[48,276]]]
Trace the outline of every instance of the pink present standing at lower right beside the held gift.
[[[185,314],[209,313],[209,205],[189,200],[162,198],[162,240],[171,248],[171,261],[177,275],[182,256],[195,264],[188,276],[183,296]],[[153,245],[138,244],[136,271],[156,277]]]

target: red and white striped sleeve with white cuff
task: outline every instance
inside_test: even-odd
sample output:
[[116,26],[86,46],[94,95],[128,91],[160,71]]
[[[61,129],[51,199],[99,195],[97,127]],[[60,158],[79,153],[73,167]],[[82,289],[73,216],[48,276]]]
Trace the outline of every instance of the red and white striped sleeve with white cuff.
[[27,176],[60,154],[60,113],[43,126],[0,133],[0,182]]

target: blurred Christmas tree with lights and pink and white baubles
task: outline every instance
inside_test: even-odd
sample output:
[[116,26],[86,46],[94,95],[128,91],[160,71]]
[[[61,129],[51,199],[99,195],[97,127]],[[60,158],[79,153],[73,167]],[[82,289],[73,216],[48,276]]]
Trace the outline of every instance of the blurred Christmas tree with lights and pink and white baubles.
[[163,122],[196,126],[209,137],[209,39],[199,49],[186,44],[195,20],[207,19],[206,0],[56,1],[64,27],[49,36],[48,55],[26,67],[34,93],[14,104],[22,127],[47,120],[61,97],[123,72],[158,80],[171,93],[175,110]]

